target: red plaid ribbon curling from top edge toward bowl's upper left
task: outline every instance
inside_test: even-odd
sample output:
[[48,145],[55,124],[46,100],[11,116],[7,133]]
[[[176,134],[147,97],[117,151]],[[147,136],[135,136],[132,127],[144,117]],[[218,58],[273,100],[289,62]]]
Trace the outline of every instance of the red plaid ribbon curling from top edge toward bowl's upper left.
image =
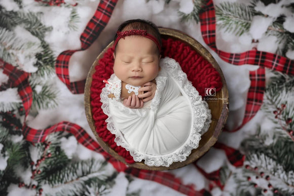
[[101,0],[94,16],[90,19],[80,37],[82,48],[80,50],[63,51],[56,59],[55,72],[61,82],[63,82],[73,94],[84,93],[86,80],[77,82],[69,81],[68,66],[70,57],[73,53],[86,50],[93,44],[93,42],[96,40],[100,32],[104,29],[109,19],[111,18],[117,1],[118,0]]

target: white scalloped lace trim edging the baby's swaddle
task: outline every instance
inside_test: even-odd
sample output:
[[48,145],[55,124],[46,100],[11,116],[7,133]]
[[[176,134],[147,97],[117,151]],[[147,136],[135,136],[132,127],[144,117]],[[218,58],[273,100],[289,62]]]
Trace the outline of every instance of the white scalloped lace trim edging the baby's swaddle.
[[[160,65],[162,71],[160,71],[159,75],[156,77],[157,90],[154,98],[152,99],[150,108],[152,110],[157,111],[161,99],[161,91],[164,89],[166,85],[166,73],[168,73],[168,75],[170,75],[172,79],[176,82],[176,84],[179,86],[182,95],[185,96],[188,100],[190,100],[191,108],[193,110],[192,131],[190,132],[187,141],[175,151],[164,155],[150,155],[140,153],[136,149],[133,149],[126,142],[122,133],[115,127],[113,117],[109,112],[109,101],[112,101],[115,107],[119,110],[124,111],[126,113],[136,113],[139,116],[144,116],[146,114],[147,108],[132,109],[125,107],[120,101],[109,99],[106,95],[106,87],[102,89],[100,97],[102,102],[101,108],[103,112],[106,115],[108,115],[108,118],[105,121],[107,123],[107,129],[112,134],[116,135],[115,142],[117,143],[117,145],[120,145],[124,147],[126,150],[130,151],[130,154],[133,156],[133,159],[136,162],[141,162],[142,160],[145,160],[144,164],[148,166],[169,167],[173,162],[186,161],[187,157],[191,153],[191,150],[198,147],[201,135],[207,132],[209,124],[211,123],[211,114],[210,109],[208,109],[208,104],[205,101],[202,101],[202,98],[199,95],[198,91],[195,89],[195,87],[193,87],[191,82],[188,81],[187,74],[181,70],[179,64],[174,59],[165,57],[161,60]],[[114,81],[112,81],[112,79],[114,79]],[[108,81],[115,83],[115,80],[119,81],[119,79],[113,74],[111,76],[111,80]]]

